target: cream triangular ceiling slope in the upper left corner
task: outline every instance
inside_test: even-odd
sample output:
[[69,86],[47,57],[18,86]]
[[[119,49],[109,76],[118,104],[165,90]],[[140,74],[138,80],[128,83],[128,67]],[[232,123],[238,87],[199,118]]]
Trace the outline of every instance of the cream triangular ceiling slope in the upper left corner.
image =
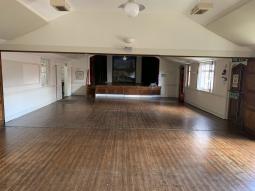
[[47,22],[14,0],[0,1],[0,39],[13,39]]

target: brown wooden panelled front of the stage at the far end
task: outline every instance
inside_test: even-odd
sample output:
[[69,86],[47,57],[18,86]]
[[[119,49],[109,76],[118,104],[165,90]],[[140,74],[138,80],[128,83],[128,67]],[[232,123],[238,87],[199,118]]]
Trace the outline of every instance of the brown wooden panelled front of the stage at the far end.
[[161,87],[97,85],[96,94],[160,95]]

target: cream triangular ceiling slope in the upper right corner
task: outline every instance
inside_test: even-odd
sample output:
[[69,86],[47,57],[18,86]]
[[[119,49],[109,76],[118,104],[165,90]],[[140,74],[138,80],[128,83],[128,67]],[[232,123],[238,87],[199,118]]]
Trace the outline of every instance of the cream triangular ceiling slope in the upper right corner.
[[233,12],[210,23],[211,31],[242,46],[255,49],[255,1],[250,0]]

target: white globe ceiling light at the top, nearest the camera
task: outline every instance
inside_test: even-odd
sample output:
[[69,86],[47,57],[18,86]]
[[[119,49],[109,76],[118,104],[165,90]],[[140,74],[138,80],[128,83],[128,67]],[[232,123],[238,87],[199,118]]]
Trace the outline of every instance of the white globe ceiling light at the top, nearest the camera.
[[124,9],[125,13],[130,17],[137,17],[139,12],[145,10],[143,4],[136,3],[135,0],[128,0],[119,6],[120,9]]

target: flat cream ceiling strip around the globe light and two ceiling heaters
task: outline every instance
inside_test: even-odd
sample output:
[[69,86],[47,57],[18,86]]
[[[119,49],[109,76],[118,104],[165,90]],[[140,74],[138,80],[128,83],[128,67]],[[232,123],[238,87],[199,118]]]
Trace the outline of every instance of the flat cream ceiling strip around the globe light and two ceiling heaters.
[[[38,13],[40,16],[45,18],[47,21],[51,21],[65,13],[57,12],[49,4],[49,0],[18,0],[23,3],[31,10]],[[127,0],[68,0],[71,4],[73,11],[84,11],[84,12],[118,12],[121,14],[122,10],[117,7],[126,2]],[[231,9],[247,0],[207,0],[212,1],[214,8],[204,14],[203,16],[190,15],[190,11],[193,6],[196,5],[198,0],[137,0],[138,3],[142,3],[146,6],[146,13],[169,13],[179,12],[187,15],[194,21],[206,25],[219,14]]]

